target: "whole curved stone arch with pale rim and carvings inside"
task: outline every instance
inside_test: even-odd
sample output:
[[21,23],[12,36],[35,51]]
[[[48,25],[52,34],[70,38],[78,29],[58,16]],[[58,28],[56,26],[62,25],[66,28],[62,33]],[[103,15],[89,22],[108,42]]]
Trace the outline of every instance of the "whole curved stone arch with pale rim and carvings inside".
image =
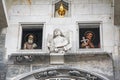
[[97,74],[71,67],[51,67],[22,74],[12,80],[109,80]]

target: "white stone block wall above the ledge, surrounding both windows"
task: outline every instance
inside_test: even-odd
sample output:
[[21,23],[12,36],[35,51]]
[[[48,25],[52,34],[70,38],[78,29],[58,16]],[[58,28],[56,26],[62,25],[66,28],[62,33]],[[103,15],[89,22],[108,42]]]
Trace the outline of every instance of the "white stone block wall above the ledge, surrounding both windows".
[[[13,1],[13,0],[10,0]],[[43,48],[47,52],[47,37],[53,30],[60,28],[62,32],[73,32],[72,52],[78,50],[78,24],[79,22],[101,22],[101,43],[106,52],[113,52],[114,25],[113,6],[111,0],[72,0],[71,15],[65,18],[54,18],[54,0],[34,0],[31,5],[26,1],[7,2],[9,27],[7,30],[7,55],[20,50],[21,26],[20,23],[45,23]],[[110,34],[110,35],[108,35]],[[14,43],[14,44],[13,44]]]

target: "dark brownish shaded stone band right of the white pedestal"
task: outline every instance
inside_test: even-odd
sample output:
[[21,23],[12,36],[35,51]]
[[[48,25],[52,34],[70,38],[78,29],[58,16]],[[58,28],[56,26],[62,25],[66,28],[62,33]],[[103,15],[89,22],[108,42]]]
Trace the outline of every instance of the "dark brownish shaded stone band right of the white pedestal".
[[90,53],[90,54],[65,54],[65,62],[78,62],[86,60],[112,60],[111,53]]

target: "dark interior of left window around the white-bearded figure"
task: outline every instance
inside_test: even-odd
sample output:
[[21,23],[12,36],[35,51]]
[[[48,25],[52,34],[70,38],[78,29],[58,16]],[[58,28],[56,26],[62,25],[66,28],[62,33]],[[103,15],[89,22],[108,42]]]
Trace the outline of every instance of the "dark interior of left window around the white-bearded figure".
[[28,40],[28,35],[33,34],[34,35],[34,43],[37,44],[37,48],[35,49],[42,49],[42,35],[43,35],[43,29],[42,28],[23,28],[22,30],[22,45],[21,49],[23,49],[24,43]]

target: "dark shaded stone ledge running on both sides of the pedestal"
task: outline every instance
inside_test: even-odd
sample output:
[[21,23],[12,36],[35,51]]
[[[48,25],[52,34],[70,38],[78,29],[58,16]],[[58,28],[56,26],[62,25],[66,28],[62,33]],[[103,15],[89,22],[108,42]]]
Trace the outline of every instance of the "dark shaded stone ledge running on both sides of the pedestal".
[[[59,57],[60,54],[56,55]],[[50,64],[50,55],[49,53],[13,53],[9,57],[8,63],[11,61],[13,64],[36,64],[44,63]],[[66,53],[63,55],[63,59],[66,62],[78,62],[81,60],[101,60],[101,59],[111,59],[112,53],[107,52],[90,52],[90,53]]]

